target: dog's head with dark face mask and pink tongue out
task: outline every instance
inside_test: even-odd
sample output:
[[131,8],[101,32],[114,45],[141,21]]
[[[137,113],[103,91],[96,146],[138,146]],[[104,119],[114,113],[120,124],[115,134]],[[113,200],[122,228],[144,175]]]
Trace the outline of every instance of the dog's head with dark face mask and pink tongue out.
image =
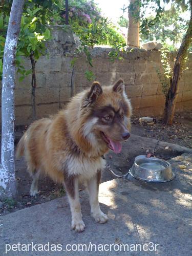
[[83,125],[83,134],[89,142],[120,153],[121,143],[130,137],[131,126],[131,104],[122,79],[108,87],[93,82],[83,98],[82,109],[89,113]]

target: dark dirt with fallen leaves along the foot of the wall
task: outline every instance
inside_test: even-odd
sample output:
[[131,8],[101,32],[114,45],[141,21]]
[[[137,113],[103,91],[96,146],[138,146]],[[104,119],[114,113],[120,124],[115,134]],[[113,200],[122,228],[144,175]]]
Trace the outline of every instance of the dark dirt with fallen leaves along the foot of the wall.
[[[132,119],[133,134],[192,148],[192,111],[176,114],[172,126],[164,126],[162,120],[157,120],[154,125],[140,124],[138,120],[139,118]],[[15,144],[26,129],[27,126],[16,127]],[[132,160],[130,159],[130,161]],[[39,180],[38,195],[30,197],[29,190],[32,180],[26,172],[26,164],[23,159],[16,161],[16,179],[17,198],[0,201],[0,215],[9,214],[15,210],[44,203],[65,195],[65,189],[62,185],[55,184],[48,177],[44,177]]]

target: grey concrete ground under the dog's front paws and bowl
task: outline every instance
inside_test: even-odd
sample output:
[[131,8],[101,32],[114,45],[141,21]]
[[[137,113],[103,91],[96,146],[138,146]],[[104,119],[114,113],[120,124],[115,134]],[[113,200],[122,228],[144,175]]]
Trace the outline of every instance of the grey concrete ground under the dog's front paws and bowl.
[[[87,255],[91,247],[92,253],[96,255],[191,255],[192,152],[173,144],[168,144],[169,148],[165,150],[167,143],[132,136],[132,143],[124,143],[120,155],[110,153],[106,159],[116,172],[119,170],[119,173],[125,173],[134,160],[130,160],[128,152],[134,156],[134,148],[143,147],[143,143],[146,143],[146,148],[158,149],[159,153],[156,153],[164,158],[177,156],[169,160],[176,174],[173,181],[146,183],[131,176],[127,180],[113,179],[105,170],[99,188],[99,202],[101,209],[109,216],[108,223],[98,224],[92,220],[88,196],[83,190],[80,192],[80,201],[86,224],[84,232],[70,230],[71,214],[65,196],[0,217],[0,255],[63,255],[67,253],[67,244],[70,244],[68,249],[73,245],[74,250],[78,244],[84,244],[84,251],[74,252],[78,255]],[[140,148],[140,154],[145,153],[146,148]],[[180,165],[186,168],[181,169]],[[59,244],[62,245],[62,251],[42,251],[41,247],[41,251],[35,251],[36,245],[33,251],[30,247],[29,252],[10,250],[5,253],[6,244],[18,246],[20,243],[23,244],[20,249],[25,250],[24,244],[32,242],[33,245],[47,244],[45,250],[48,247],[54,250],[53,244]],[[95,245],[99,244],[95,251]],[[110,244],[113,244],[111,251],[108,250]],[[120,248],[123,250],[123,244],[126,245],[125,252],[120,251]],[[150,251],[155,244],[158,244],[157,251]],[[89,252],[85,251],[86,246]],[[58,247],[61,249],[61,246]],[[148,251],[145,251],[147,248]],[[10,249],[9,245],[7,249]],[[99,251],[102,249],[108,251]]]

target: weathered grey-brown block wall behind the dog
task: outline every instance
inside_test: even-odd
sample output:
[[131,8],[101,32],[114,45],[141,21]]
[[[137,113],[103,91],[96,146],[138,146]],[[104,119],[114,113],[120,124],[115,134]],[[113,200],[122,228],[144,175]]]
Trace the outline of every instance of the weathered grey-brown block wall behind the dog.
[[[133,105],[135,116],[162,116],[164,95],[156,69],[162,72],[159,51],[134,49],[123,54],[122,60],[112,62],[108,56],[109,48],[94,48],[92,53],[93,68],[86,62],[86,57],[75,55],[73,35],[62,29],[53,30],[53,40],[47,45],[49,58],[41,57],[36,63],[36,114],[37,118],[55,114],[76,93],[90,87],[84,72],[92,70],[96,80],[103,85],[113,84],[115,80],[124,80],[127,95]],[[25,60],[25,67],[30,69],[30,61]],[[185,70],[180,79],[180,88],[176,109],[192,109],[191,68],[192,54],[189,54]],[[15,119],[16,124],[29,124],[32,121],[31,76],[16,83]]]

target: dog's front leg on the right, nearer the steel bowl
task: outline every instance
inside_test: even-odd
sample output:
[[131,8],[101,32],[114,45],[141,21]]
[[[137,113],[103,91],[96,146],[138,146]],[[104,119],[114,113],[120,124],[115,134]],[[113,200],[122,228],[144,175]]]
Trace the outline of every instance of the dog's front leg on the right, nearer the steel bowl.
[[101,211],[98,200],[100,179],[101,171],[98,170],[97,174],[88,180],[88,191],[91,206],[91,216],[96,222],[105,223],[108,221],[108,217]]

